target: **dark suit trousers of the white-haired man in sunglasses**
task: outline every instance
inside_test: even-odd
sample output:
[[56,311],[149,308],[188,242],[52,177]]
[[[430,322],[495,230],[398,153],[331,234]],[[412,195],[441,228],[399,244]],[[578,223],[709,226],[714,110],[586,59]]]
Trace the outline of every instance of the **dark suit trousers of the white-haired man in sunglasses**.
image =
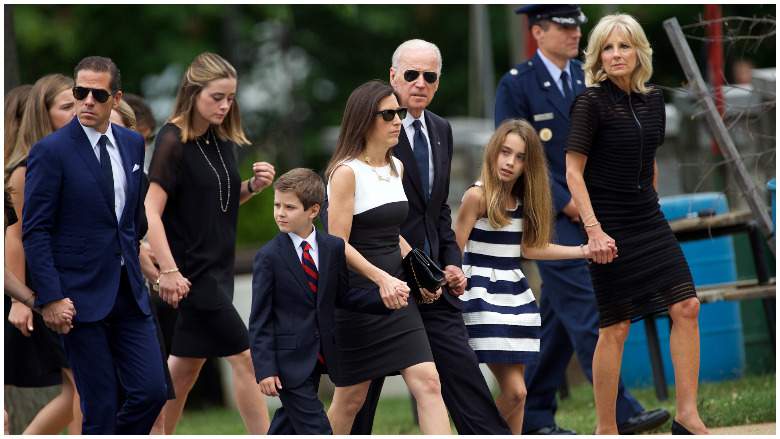
[[[445,291],[443,294],[449,294]],[[512,434],[496,408],[468,344],[461,311],[444,299],[418,305],[441,381],[441,394],[459,434]],[[384,378],[372,381],[352,434],[370,434]]]

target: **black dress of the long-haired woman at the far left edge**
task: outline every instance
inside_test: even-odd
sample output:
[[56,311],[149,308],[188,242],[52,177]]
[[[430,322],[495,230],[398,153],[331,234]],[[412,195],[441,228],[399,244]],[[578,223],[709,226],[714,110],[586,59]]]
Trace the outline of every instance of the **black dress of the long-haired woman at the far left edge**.
[[[19,167],[26,167],[26,162]],[[16,168],[14,168],[16,170]],[[18,221],[8,192],[5,192],[5,226]],[[29,285],[29,279],[25,282]],[[68,361],[62,338],[49,329],[43,317],[33,313],[33,332],[30,337],[22,335],[8,322],[11,312],[11,298],[3,296],[4,305],[4,383],[17,387],[46,387],[62,383],[62,369],[67,369]]]

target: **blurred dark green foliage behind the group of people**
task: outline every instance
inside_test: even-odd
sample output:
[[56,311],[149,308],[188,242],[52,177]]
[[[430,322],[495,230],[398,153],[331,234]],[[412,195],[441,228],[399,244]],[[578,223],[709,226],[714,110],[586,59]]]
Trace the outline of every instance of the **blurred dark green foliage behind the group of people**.
[[[395,47],[410,38],[435,42],[444,59],[442,82],[431,105],[446,117],[468,115],[469,5],[14,5],[19,78],[70,74],[84,56],[109,56],[122,71],[124,89],[144,95],[159,122],[169,115],[183,69],[203,51],[214,51],[239,71],[244,125],[254,144],[240,151],[248,163],[273,162],[279,173],[294,167],[322,169],[330,155],[322,133],[341,119],[344,102],[359,84],[387,79]],[[511,66],[510,26],[521,20],[508,5],[487,6],[496,82]],[[703,5],[584,5],[587,33],[609,12],[634,15],[654,47],[653,82],[683,81],[662,21],[701,19]],[[723,15],[772,16],[774,5],[723,5]],[[6,45],[14,41],[6,39]],[[704,59],[704,45],[690,41]],[[750,58],[775,65],[775,41],[760,50],[728,45],[727,62]],[[6,64],[6,74],[8,74]],[[474,115],[479,116],[479,115]],[[271,236],[270,194],[242,208],[239,245],[256,247]],[[268,220],[267,220],[268,219]]]

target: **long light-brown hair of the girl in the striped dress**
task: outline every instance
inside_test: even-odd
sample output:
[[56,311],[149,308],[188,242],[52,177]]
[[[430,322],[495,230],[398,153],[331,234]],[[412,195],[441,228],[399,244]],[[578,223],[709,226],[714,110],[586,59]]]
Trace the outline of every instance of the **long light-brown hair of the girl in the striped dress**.
[[[498,178],[496,168],[501,147],[509,134],[518,135],[525,143],[523,173],[512,186]],[[520,200],[523,209],[522,244],[526,247],[545,247],[549,244],[553,207],[547,176],[547,158],[542,142],[531,124],[522,119],[509,119],[496,129],[485,147],[480,180],[491,226],[500,228],[510,223],[506,201],[512,196]]]

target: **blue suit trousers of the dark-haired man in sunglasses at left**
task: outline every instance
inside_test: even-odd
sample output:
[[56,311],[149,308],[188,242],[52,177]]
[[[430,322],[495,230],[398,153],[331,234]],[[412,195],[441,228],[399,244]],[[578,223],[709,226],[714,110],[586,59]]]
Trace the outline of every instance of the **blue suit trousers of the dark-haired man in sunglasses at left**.
[[154,319],[138,308],[124,268],[120,278],[109,315],[64,337],[83,434],[149,434],[168,393]]

